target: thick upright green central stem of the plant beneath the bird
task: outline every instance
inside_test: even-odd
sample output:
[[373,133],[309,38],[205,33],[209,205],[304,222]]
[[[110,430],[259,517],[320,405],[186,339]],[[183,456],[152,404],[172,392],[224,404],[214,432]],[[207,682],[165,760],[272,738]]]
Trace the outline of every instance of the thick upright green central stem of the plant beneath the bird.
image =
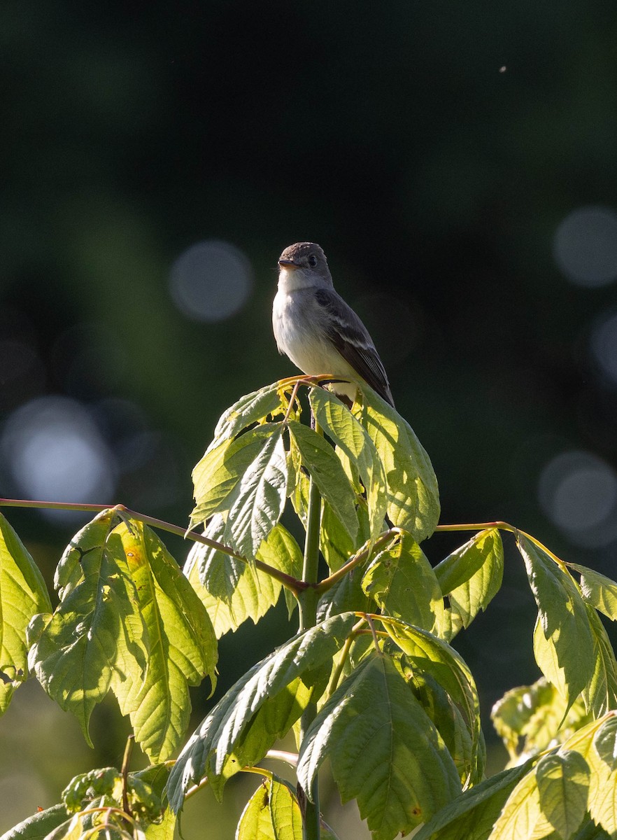
[[[321,433],[318,424],[315,423],[315,431]],[[315,584],[319,578],[319,528],[322,520],[322,496],[311,475],[309,482],[308,511],[306,513],[306,538],[304,543],[304,564],[302,566],[302,582],[306,589],[298,595],[300,606],[300,632],[315,627],[317,622],[317,601],[319,593]],[[306,731],[316,716],[316,704],[309,703],[302,713],[300,721],[300,740],[304,741]],[[319,786],[317,777],[311,786],[311,800],[305,795],[301,801],[303,807],[302,816],[302,837],[303,840],[319,840],[321,837],[321,826],[319,816]]]

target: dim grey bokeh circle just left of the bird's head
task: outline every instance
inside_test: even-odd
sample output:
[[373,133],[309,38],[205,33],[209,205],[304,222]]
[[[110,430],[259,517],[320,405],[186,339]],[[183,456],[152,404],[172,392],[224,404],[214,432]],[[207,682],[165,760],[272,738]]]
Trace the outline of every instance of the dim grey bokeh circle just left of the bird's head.
[[211,239],[191,245],[170,273],[171,297],[186,318],[217,322],[230,318],[248,301],[253,269],[235,245]]

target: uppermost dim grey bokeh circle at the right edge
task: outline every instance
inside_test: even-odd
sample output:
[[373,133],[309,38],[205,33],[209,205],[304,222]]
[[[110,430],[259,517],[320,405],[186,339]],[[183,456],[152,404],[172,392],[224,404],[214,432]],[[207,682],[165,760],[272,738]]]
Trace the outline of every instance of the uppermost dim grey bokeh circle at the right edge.
[[617,279],[617,213],[609,207],[578,207],[557,228],[553,254],[577,286],[607,286]]

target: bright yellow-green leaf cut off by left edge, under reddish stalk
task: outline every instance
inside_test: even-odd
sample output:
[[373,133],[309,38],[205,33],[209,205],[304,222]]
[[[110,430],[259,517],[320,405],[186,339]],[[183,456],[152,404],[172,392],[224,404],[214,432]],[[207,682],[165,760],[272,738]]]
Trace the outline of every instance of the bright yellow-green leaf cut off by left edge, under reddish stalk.
[[51,612],[43,575],[0,513],[0,714],[28,677],[26,628],[39,612]]

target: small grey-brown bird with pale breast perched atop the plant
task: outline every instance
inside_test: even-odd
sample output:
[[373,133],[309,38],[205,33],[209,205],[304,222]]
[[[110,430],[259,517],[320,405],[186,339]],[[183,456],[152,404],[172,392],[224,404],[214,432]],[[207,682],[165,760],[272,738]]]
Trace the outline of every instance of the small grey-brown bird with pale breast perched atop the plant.
[[[369,331],[334,291],[326,255],[314,242],[296,242],[279,257],[279,289],[272,326],[279,353],[303,373],[366,382],[394,407],[390,383]],[[357,388],[333,390],[353,401]]]

